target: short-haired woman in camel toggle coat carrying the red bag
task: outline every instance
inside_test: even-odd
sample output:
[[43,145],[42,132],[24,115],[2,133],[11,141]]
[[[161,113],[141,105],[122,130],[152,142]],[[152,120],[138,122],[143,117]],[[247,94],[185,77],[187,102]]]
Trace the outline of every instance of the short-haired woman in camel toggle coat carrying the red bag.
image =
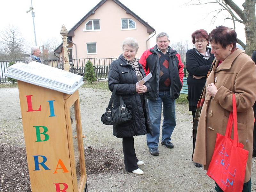
[[[244,51],[236,48],[234,30],[218,26],[209,34],[209,40],[216,60],[213,61],[200,100],[201,113],[193,160],[203,164],[205,170],[208,169],[216,134],[225,135],[228,116],[233,111],[232,95],[235,94],[239,142],[249,151],[243,191],[250,191],[254,123],[252,105],[256,100],[256,67]],[[215,189],[221,191],[218,185]]]

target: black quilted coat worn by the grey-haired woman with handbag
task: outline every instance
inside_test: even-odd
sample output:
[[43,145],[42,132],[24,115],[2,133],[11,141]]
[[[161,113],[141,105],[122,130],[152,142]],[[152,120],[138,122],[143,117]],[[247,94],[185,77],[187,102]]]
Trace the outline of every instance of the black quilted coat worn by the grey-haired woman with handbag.
[[[140,65],[140,64],[139,64]],[[140,72],[145,77],[143,67],[140,65]],[[122,55],[110,65],[108,74],[108,88],[113,91],[114,85],[118,84],[116,94],[121,95],[126,108],[132,112],[132,120],[113,125],[113,135],[117,138],[132,137],[134,135],[152,134],[152,127],[148,114],[148,102],[142,95],[144,105],[141,104],[140,95],[136,92],[136,83],[138,82],[134,69],[128,64]],[[148,91],[151,91],[150,84],[146,82]],[[114,107],[120,106],[118,96],[114,99]]]

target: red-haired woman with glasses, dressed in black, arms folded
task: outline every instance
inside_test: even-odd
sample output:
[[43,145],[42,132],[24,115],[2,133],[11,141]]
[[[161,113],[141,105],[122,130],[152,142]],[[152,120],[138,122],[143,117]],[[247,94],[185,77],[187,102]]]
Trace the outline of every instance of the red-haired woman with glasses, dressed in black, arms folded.
[[[196,30],[192,33],[192,42],[195,48],[187,51],[186,68],[188,71],[188,102],[189,111],[192,112],[193,120],[196,114],[196,106],[200,99],[202,90],[205,85],[206,75],[211,67],[214,56],[211,53],[211,48],[208,48],[209,39],[208,33],[204,29]],[[196,130],[193,130],[193,152],[194,154],[196,143]],[[195,162],[196,167],[201,167],[201,164]]]

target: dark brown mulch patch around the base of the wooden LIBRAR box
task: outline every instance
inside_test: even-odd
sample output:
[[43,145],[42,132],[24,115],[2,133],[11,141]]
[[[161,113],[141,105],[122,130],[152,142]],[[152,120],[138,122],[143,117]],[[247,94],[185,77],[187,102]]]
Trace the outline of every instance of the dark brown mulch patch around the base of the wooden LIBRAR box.
[[[85,148],[87,176],[90,174],[115,174],[123,172],[124,161],[115,149]],[[25,147],[1,145],[0,148],[0,191],[31,191]]]

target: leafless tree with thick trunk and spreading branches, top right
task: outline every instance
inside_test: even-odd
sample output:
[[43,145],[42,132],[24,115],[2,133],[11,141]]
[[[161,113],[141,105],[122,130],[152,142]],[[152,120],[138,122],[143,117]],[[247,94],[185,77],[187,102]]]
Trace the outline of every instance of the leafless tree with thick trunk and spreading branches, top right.
[[236,29],[236,22],[244,24],[245,39],[246,44],[237,38],[237,43],[240,44],[248,55],[252,55],[252,52],[256,50],[256,17],[255,17],[255,4],[256,0],[244,0],[242,10],[234,1],[232,0],[213,0],[213,1],[201,1],[201,0],[191,0],[191,2],[196,2],[195,5],[202,4],[219,4],[220,9],[215,10],[215,15],[213,19],[216,19],[220,12],[226,11],[229,13],[230,17],[225,17],[225,19],[232,20],[234,29]]

